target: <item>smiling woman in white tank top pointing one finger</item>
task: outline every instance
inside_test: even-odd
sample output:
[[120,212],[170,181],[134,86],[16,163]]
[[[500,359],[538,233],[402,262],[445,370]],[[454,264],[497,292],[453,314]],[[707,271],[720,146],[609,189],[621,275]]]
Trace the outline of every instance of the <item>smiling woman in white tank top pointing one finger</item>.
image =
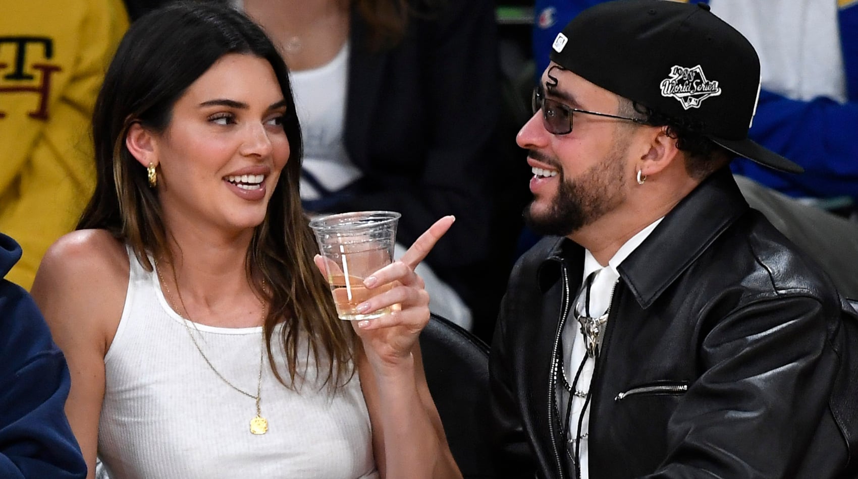
[[[337,319],[299,200],[288,70],[244,15],[178,3],[137,20],[93,122],[97,187],[33,296],[68,357],[94,477],[460,476],[422,372],[414,266],[444,218]],[[355,334],[355,332],[357,332]]]

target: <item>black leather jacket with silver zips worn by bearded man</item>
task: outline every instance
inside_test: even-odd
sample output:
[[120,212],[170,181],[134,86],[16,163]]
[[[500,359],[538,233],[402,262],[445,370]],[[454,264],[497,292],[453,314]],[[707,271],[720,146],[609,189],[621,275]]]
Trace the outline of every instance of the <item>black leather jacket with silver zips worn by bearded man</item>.
[[[582,268],[583,248],[553,237],[511,274],[491,357],[498,476],[569,476],[554,392]],[[858,476],[858,315],[729,171],[619,275],[590,386],[590,478]]]

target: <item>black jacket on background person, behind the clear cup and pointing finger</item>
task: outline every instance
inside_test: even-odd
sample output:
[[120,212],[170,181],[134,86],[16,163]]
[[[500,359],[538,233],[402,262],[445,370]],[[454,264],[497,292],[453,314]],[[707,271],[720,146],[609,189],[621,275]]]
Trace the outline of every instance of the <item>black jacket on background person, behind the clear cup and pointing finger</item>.
[[372,50],[353,11],[345,141],[364,177],[362,192],[332,211],[400,212],[397,239],[405,246],[456,215],[426,259],[450,280],[488,248],[500,96],[493,3],[440,3],[443,9],[412,15],[405,38],[381,51]]

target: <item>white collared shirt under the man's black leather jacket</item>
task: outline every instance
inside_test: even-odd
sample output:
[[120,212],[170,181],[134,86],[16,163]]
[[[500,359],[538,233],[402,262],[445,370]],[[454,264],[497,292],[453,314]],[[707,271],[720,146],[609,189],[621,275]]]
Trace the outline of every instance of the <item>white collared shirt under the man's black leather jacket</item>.
[[[590,286],[590,297],[589,297],[589,312],[583,311],[583,309],[579,309],[580,314],[589,313],[590,317],[598,317],[602,314],[605,314],[607,308],[611,305],[611,298],[613,296],[613,287],[614,284],[617,283],[619,279],[619,271],[617,268],[619,264],[625,260],[634,251],[644,240],[650,236],[653,230],[656,229],[659,223],[662,222],[662,219],[656,219],[656,221],[650,223],[650,225],[646,226],[643,230],[638,231],[637,234],[628,241],[623,243],[623,245],[617,250],[613,257],[607,261],[607,266],[602,267],[599,264],[599,261],[595,259],[592,253],[589,252],[589,249],[584,250],[584,268],[583,268],[583,282],[587,280],[587,277],[591,272],[596,272],[595,278],[593,278],[593,284]],[[573,304],[572,308],[579,307],[584,308],[583,303]],[[563,357],[564,357],[564,369],[563,374],[565,375],[566,382],[571,384],[577,391],[587,392],[589,391],[590,381],[593,379],[593,368],[595,367],[595,361],[592,357],[588,357],[587,361],[584,362],[583,369],[581,371],[581,377],[578,379],[577,385],[573,384],[575,380],[575,374],[577,373],[577,368],[581,365],[581,362],[584,356],[587,354],[587,347],[584,344],[583,334],[581,334],[578,328],[578,322],[575,320],[574,315],[570,314],[566,318],[565,325],[563,327],[562,332],[563,338]],[[561,389],[563,386],[559,386]],[[576,395],[571,395],[572,400],[572,409],[569,417],[569,437],[574,439],[577,437],[577,425],[578,419],[581,416],[581,410],[584,406],[584,398],[580,398]],[[560,417],[562,418],[565,415],[565,404],[562,401],[558,401],[558,404],[561,405]],[[587,410],[584,412],[583,422],[581,425],[581,446],[580,446],[580,455],[581,455],[581,478],[589,479],[589,460],[588,460],[588,441],[587,435],[589,434],[589,405]],[[571,445],[574,447],[574,445]]]

